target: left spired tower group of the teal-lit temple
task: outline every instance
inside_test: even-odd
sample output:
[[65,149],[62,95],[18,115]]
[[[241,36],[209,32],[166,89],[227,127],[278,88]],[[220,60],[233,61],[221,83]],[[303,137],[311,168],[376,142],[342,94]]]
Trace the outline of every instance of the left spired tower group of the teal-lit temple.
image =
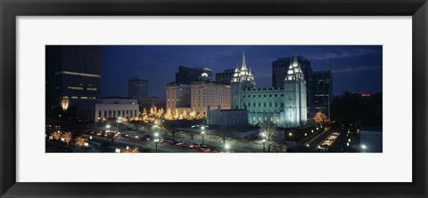
[[243,109],[244,107],[241,101],[242,91],[255,88],[256,83],[254,81],[254,76],[252,75],[251,67],[247,68],[247,64],[245,62],[245,52],[243,52],[243,64],[241,68],[239,68],[238,62],[236,61],[235,72],[230,83],[232,99],[231,108]]

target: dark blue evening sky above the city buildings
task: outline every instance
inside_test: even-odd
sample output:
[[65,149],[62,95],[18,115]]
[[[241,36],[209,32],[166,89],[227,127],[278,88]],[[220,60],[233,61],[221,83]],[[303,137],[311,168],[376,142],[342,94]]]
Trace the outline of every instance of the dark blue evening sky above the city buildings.
[[[149,95],[165,97],[178,66],[210,67],[215,73],[235,68],[245,51],[258,88],[272,87],[272,61],[294,49],[314,71],[332,70],[333,93],[382,91],[382,45],[128,45],[103,46],[103,96],[128,96],[128,79],[149,80]],[[213,76],[213,77],[214,77]]]

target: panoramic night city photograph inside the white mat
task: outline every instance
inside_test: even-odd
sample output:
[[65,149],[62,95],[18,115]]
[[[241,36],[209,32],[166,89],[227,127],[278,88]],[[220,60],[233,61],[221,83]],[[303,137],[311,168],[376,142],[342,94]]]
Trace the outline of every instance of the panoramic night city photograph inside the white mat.
[[45,153],[382,152],[382,45],[45,46]]

